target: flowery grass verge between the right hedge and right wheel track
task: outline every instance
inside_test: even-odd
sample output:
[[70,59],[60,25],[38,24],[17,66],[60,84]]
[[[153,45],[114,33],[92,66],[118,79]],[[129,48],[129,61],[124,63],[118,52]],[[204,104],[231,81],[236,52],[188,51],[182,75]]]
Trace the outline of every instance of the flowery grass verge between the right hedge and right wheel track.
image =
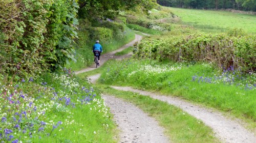
[[208,64],[112,61],[104,69],[99,82],[158,91],[201,103],[228,112],[255,130],[256,75],[232,72],[221,73]]

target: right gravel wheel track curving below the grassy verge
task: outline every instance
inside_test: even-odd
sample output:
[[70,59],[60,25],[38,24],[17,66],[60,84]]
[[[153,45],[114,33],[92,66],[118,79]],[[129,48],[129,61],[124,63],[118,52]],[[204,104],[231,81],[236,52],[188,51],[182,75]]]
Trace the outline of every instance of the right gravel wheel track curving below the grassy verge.
[[145,92],[141,90],[135,90],[130,87],[112,87],[117,90],[132,91],[139,93],[141,95],[150,96],[154,99],[161,101],[166,101],[169,104],[180,107],[182,110],[189,113],[191,116],[200,119],[206,125],[211,127],[216,136],[220,138],[223,142],[245,142],[245,143],[255,143],[256,137],[253,133],[247,131],[239,122],[229,120],[221,115],[220,112],[212,111],[204,107],[200,107],[184,100],[174,97],[161,96],[155,93]]

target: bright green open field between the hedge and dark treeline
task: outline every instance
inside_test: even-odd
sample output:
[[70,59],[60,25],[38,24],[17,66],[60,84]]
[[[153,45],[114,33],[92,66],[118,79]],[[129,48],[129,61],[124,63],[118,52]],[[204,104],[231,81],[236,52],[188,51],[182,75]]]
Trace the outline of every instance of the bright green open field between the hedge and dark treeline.
[[226,32],[233,28],[242,28],[249,34],[256,34],[255,15],[213,10],[165,9],[178,15],[181,18],[181,23],[192,25],[205,33]]

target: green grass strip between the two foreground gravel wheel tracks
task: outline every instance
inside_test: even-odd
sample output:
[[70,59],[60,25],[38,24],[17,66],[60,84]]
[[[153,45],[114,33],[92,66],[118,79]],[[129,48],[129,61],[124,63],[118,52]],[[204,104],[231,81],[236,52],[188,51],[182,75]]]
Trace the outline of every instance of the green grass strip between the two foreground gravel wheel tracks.
[[133,92],[115,90],[103,84],[96,86],[104,94],[114,95],[131,102],[155,118],[164,127],[165,134],[171,142],[219,142],[212,130],[202,121],[173,105]]

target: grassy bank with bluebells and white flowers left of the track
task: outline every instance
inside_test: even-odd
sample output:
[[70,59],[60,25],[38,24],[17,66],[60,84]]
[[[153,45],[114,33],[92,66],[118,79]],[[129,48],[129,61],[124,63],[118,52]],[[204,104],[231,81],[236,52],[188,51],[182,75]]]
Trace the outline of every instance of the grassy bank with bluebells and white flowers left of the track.
[[1,81],[0,94],[2,142],[117,142],[98,90],[68,71]]

